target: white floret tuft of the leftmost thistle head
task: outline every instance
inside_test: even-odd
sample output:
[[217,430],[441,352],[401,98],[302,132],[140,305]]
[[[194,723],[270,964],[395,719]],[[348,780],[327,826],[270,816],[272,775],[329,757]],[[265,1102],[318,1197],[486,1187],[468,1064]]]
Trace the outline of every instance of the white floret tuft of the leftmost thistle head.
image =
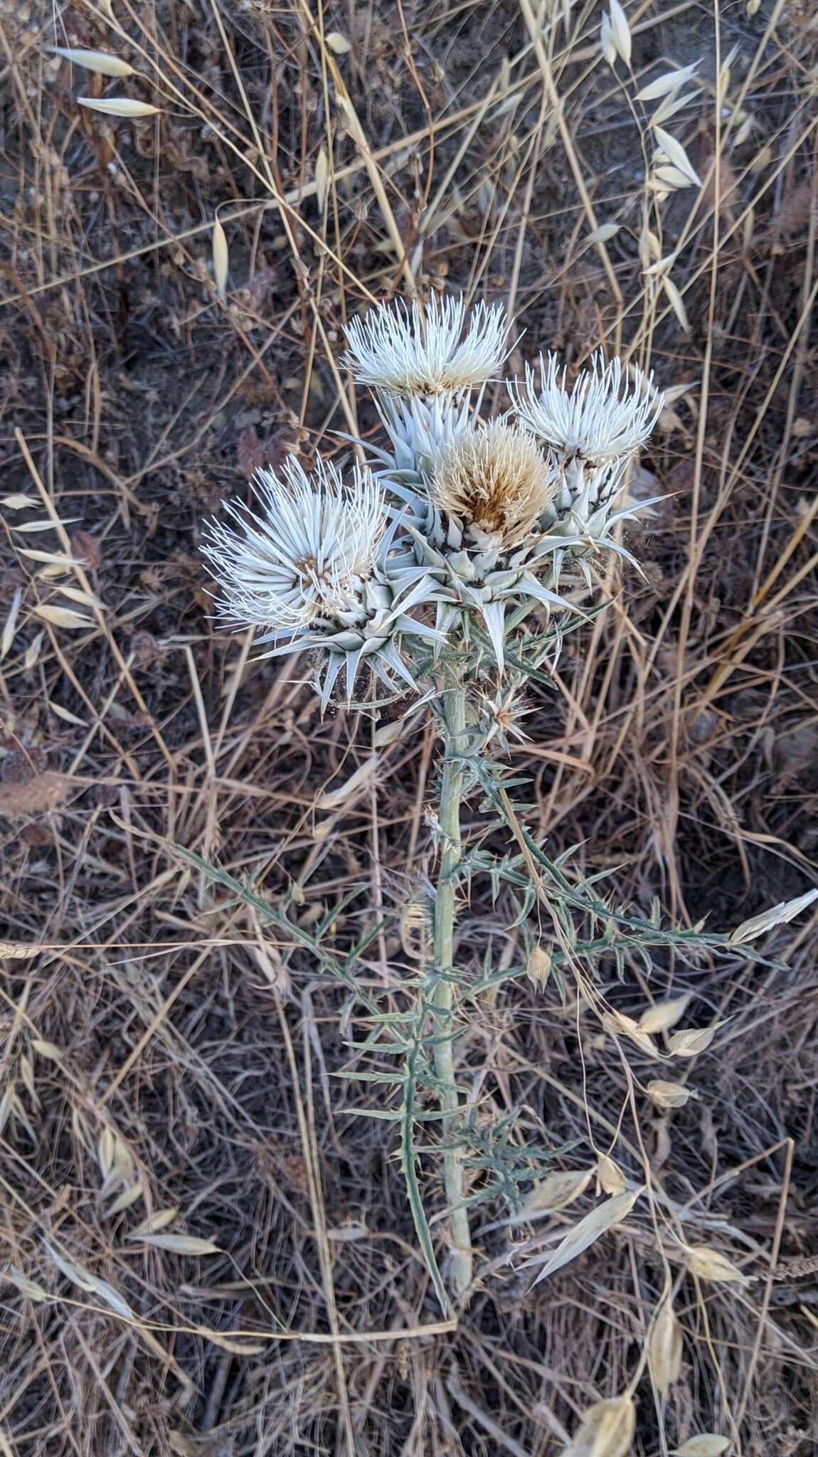
[[288,456],[281,475],[259,471],[253,488],[253,508],[226,503],[236,527],[205,523],[220,616],[285,635],[355,618],[387,525],[370,472],[355,466],[346,487],[332,462],[307,475]]

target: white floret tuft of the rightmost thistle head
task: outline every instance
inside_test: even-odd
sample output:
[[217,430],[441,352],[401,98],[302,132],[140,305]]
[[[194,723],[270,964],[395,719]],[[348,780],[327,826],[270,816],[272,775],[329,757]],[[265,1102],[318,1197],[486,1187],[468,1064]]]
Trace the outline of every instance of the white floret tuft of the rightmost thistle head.
[[635,369],[630,380],[622,360],[605,364],[601,353],[591,357],[591,369],[582,370],[572,389],[566,388],[556,354],[549,354],[547,361],[540,356],[539,382],[525,366],[525,392],[514,383],[508,389],[523,425],[565,459],[581,456],[594,465],[643,444],[664,405],[652,374]]

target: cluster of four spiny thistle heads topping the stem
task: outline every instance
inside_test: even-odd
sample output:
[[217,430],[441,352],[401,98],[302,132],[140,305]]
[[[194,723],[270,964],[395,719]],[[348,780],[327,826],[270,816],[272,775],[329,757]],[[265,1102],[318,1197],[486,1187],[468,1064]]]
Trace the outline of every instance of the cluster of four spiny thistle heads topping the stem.
[[[560,580],[611,538],[627,466],[662,409],[652,376],[600,354],[569,388],[556,356],[507,382],[485,421],[485,386],[508,354],[502,307],[461,297],[381,305],[346,332],[345,364],[374,393],[389,444],[345,476],[290,457],[259,472],[253,507],[205,527],[204,554],[233,627],[263,628],[268,656],[322,650],[322,704],[367,663],[390,689],[445,643],[480,643],[502,672],[507,612],[562,609]],[[645,503],[649,504],[649,503]],[[434,624],[429,621],[434,615]],[[477,627],[477,632],[473,628]]]

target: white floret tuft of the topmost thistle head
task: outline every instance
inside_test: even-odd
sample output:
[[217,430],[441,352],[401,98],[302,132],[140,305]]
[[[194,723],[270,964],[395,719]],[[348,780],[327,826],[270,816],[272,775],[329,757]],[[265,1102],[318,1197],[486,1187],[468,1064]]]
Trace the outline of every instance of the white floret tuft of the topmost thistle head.
[[422,306],[397,299],[352,319],[344,363],[358,383],[393,395],[474,389],[499,373],[507,332],[499,305],[477,303],[466,318],[463,294]]

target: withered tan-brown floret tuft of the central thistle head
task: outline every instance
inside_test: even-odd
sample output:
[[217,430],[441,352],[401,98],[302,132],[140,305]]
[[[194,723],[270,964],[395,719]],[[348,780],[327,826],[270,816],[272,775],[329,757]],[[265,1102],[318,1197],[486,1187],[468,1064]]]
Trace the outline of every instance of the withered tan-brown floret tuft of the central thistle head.
[[531,436],[502,420],[445,446],[431,487],[438,510],[504,546],[531,532],[553,491],[552,469]]

